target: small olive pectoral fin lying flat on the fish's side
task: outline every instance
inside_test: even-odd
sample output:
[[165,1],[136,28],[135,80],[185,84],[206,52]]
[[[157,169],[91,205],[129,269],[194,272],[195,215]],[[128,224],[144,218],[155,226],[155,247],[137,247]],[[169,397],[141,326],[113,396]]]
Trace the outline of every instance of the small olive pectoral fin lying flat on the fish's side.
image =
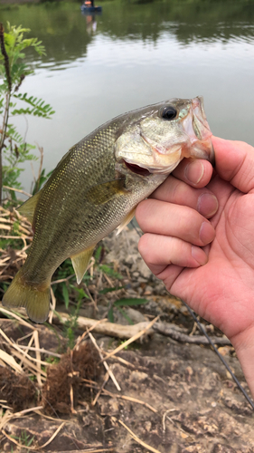
[[86,193],[86,199],[95,206],[104,205],[114,198],[126,195],[125,179],[114,179],[113,181],[104,182],[93,188],[89,188]]

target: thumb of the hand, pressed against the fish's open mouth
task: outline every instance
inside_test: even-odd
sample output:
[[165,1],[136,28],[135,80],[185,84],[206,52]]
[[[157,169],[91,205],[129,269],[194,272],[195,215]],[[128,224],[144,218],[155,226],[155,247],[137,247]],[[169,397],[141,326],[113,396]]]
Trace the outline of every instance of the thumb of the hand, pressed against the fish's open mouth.
[[254,148],[244,141],[212,137],[215,168],[222,179],[241,192],[254,188]]

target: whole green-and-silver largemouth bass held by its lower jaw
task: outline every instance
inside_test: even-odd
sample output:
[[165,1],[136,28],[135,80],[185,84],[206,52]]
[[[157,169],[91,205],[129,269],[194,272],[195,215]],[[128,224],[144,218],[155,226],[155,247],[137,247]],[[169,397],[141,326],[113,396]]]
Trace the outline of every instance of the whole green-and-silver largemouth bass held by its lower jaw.
[[116,228],[119,233],[183,158],[214,159],[202,96],[129,111],[72,146],[18,208],[32,223],[33,242],[2,304],[24,307],[43,323],[57,267],[71,257],[80,284],[99,241]]

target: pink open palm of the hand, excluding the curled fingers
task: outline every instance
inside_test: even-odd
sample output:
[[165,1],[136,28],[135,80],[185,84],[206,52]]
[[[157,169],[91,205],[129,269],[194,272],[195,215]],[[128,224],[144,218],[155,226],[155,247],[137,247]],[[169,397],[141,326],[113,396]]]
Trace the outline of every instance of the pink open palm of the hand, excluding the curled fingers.
[[254,294],[254,194],[242,194],[219,177],[208,188],[220,203],[211,220],[216,237],[207,246],[209,261],[198,268],[183,268],[168,289],[231,338],[254,322],[250,309]]

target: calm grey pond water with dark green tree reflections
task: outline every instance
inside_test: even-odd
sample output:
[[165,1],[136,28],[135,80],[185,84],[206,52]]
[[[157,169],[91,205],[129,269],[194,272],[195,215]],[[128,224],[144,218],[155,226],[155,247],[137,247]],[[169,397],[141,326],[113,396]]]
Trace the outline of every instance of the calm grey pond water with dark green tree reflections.
[[[0,2],[1,3],[1,2]],[[45,45],[29,52],[35,74],[21,92],[42,97],[52,120],[20,118],[49,171],[77,141],[120,113],[171,97],[202,94],[214,135],[254,145],[254,2],[246,0],[99,1],[3,6],[4,24],[23,24]],[[36,60],[34,60],[36,58]],[[26,190],[31,168],[22,175]]]

